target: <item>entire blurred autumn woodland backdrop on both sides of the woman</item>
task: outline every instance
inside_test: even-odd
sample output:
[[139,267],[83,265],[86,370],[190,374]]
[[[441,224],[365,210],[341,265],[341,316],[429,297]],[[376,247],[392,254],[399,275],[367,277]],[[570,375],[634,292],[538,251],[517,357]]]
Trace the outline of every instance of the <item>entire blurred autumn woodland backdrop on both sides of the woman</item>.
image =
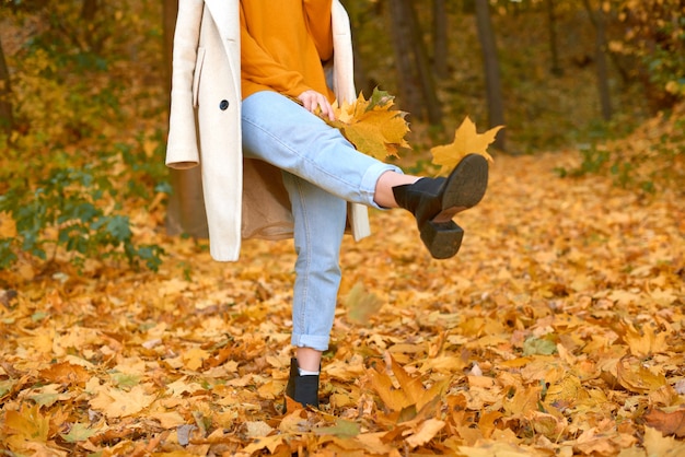
[[[654,191],[653,176],[632,179],[641,164],[669,169],[682,160],[682,0],[342,3],[358,89],[380,86],[410,113],[403,165],[411,171],[433,169],[428,149],[451,141],[465,116],[490,127],[494,101],[507,126],[500,152],[577,151],[580,165],[564,176],[612,173],[618,185]],[[175,8],[0,0],[0,267],[60,253],[81,265],[104,256],[159,265],[162,249],[138,236],[131,214],[164,221],[169,195],[197,192],[163,165]],[[622,155],[622,139],[664,122]],[[605,147],[616,141],[614,152]]]

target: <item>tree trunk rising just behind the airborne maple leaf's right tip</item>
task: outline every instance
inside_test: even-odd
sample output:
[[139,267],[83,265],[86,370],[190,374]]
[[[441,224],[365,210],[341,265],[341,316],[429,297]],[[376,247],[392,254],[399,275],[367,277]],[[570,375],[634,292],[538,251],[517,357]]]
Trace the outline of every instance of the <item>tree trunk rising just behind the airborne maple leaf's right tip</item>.
[[[502,86],[500,81],[499,58],[495,31],[490,19],[488,0],[476,0],[476,22],[478,25],[478,39],[483,49],[485,66],[485,80],[488,101],[489,127],[504,125],[504,103],[502,99]],[[495,140],[495,147],[504,150],[504,132],[500,131]]]

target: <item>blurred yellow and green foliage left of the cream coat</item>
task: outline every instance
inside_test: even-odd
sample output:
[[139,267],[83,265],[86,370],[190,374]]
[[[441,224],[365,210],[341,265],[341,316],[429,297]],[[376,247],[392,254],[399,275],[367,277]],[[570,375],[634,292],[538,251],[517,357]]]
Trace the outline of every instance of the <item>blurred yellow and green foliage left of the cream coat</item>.
[[156,268],[130,209],[170,191],[160,5],[3,0],[0,31],[0,268],[26,255]]

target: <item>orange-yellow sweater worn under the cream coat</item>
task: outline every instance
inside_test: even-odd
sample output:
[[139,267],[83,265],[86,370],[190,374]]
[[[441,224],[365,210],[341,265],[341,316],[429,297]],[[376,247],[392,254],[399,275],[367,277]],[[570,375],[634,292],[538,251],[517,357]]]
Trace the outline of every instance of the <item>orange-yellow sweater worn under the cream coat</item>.
[[241,0],[243,98],[259,91],[335,99],[322,61],[333,57],[332,0]]

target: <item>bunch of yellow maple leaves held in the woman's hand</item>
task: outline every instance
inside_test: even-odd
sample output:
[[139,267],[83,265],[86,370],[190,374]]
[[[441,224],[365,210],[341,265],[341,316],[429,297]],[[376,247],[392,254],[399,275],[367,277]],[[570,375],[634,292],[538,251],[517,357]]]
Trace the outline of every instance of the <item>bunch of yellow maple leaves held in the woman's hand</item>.
[[364,154],[379,160],[397,156],[400,148],[409,147],[405,140],[409,126],[405,112],[392,109],[394,99],[387,92],[374,89],[369,99],[360,93],[351,104],[339,105],[336,101],[333,104],[336,119],[327,122]]

